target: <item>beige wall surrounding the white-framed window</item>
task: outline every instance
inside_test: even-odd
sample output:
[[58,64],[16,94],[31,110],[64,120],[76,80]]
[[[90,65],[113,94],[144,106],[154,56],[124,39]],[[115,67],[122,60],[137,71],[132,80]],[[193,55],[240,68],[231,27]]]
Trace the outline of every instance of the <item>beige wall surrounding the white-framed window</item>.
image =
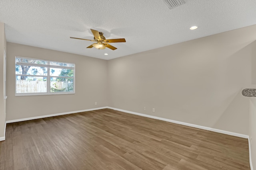
[[[106,60],[15,43],[7,46],[6,121],[108,106]],[[15,96],[15,56],[75,63],[76,94]]]

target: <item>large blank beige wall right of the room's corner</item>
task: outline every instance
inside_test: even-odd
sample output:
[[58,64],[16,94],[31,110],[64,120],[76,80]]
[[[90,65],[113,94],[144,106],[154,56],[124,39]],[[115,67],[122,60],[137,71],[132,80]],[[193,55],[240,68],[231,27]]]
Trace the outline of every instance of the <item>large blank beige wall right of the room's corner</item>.
[[241,91],[252,81],[255,30],[253,25],[108,61],[109,106],[248,135],[249,99]]

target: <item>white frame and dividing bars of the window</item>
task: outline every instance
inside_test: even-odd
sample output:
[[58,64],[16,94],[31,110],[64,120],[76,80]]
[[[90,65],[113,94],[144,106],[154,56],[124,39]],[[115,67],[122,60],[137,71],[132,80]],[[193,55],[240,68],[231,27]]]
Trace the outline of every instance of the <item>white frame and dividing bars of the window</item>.
[[[25,62],[18,62],[18,59],[28,59],[28,60],[35,60],[35,61],[42,61],[46,62],[47,64],[38,64],[38,63],[25,63]],[[15,72],[15,96],[33,96],[33,95],[54,95],[54,94],[75,94],[75,64],[74,63],[65,63],[59,61],[50,61],[50,60],[42,60],[42,59],[33,59],[33,58],[26,58],[26,57],[15,57],[15,66],[16,65],[27,65],[27,66],[40,66],[47,68],[47,76],[46,75],[30,75],[30,74],[16,74]],[[67,66],[62,66],[60,64],[66,64]],[[73,69],[74,76],[51,76],[50,75],[50,68],[64,68],[64,69]],[[29,76],[29,77],[47,77],[47,92],[37,92],[37,93],[17,93],[16,92],[16,76]],[[50,78],[73,78],[73,92],[50,92]]]

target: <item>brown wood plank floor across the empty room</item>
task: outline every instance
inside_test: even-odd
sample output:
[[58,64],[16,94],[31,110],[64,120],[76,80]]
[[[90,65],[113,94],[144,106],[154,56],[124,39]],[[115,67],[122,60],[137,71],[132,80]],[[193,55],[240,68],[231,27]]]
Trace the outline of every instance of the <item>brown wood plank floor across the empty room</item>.
[[1,170],[249,170],[248,140],[101,109],[6,126]]

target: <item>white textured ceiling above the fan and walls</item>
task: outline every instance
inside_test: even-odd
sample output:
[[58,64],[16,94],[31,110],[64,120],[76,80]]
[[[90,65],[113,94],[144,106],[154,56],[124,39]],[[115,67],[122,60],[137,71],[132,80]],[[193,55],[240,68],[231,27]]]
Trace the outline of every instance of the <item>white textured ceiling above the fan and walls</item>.
[[[162,0],[0,0],[0,22],[8,42],[100,59],[256,24],[256,0],[185,2],[170,10]],[[86,49],[93,42],[69,38],[93,39],[90,29],[126,43],[111,43],[115,51]]]

